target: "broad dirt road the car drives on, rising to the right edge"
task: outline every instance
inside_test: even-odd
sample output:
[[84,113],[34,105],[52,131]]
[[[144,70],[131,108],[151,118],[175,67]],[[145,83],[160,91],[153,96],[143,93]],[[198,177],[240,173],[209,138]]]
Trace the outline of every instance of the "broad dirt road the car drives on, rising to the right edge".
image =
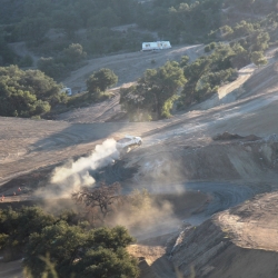
[[[1,181],[53,165],[93,149],[99,140],[126,133],[143,136],[142,148],[161,141],[171,145],[210,143],[209,137],[229,130],[240,135],[278,133],[277,89],[240,99],[206,111],[190,111],[158,122],[103,122],[70,125],[64,121],[36,121],[1,118]],[[198,139],[198,140],[196,140]]]

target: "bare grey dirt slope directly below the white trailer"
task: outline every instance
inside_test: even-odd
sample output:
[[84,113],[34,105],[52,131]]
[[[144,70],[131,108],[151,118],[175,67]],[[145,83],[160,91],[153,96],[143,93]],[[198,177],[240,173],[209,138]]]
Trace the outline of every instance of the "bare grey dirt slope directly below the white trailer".
[[[191,60],[203,53],[203,46],[173,47],[163,51],[139,51],[107,56],[91,59],[81,69],[71,72],[71,76],[62,82],[72,88],[73,92],[86,88],[86,79],[96,70],[109,68],[118,76],[118,85],[135,82],[141,77],[146,69],[161,67],[167,60],[179,61],[181,56],[189,56]],[[153,63],[151,61],[155,61]]]

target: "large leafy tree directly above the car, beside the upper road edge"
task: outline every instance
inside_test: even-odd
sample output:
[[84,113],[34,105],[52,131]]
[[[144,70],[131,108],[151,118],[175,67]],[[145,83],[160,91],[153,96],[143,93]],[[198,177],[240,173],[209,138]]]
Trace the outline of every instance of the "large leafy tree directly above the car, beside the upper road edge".
[[169,118],[178,88],[186,82],[178,62],[146,70],[136,86],[121,90],[120,103],[131,120]]

